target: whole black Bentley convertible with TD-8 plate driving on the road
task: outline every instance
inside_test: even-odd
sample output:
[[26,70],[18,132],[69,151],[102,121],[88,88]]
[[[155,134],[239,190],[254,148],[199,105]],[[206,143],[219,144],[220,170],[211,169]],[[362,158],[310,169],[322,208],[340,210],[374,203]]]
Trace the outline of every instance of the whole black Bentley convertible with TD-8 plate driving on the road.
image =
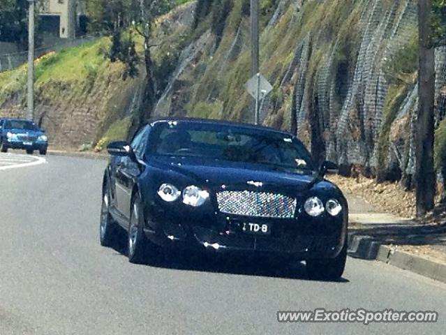
[[112,142],[103,177],[100,238],[128,232],[128,258],[164,248],[288,256],[311,278],[341,277],[348,204],[290,133],[198,119],[142,126]]

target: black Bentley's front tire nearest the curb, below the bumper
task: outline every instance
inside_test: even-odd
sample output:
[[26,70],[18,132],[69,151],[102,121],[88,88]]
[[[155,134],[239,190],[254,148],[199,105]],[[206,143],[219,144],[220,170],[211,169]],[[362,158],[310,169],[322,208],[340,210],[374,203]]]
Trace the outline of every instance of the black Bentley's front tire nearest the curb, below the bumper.
[[326,260],[306,260],[306,273],[310,279],[337,281],[341,278],[347,260],[347,243],[335,258]]

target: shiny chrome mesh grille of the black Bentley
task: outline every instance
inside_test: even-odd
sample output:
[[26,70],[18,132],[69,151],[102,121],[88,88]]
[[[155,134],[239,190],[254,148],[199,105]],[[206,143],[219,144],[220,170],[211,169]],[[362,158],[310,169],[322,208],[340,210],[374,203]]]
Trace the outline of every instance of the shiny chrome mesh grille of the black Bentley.
[[218,209],[225,214],[262,218],[293,218],[295,198],[278,193],[221,191],[217,193]]

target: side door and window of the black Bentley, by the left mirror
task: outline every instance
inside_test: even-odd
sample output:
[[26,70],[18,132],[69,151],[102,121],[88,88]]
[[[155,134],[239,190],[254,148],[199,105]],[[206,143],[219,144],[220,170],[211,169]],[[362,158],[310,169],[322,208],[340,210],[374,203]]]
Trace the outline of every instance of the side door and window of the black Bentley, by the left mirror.
[[[144,160],[148,133],[149,126],[145,126],[136,133],[131,142],[135,156],[140,161]],[[132,190],[135,184],[135,178],[140,173],[140,164],[128,156],[121,157],[117,162],[115,175],[117,209],[125,218],[130,218]]]

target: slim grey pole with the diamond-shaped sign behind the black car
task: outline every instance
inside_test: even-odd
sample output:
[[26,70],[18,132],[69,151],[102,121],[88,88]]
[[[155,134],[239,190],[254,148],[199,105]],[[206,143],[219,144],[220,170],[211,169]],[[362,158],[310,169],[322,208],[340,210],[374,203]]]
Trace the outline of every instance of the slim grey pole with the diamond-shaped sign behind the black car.
[[[259,73],[259,1],[251,0],[251,76],[258,75]],[[259,124],[259,98],[260,98],[260,85],[258,85],[258,92],[255,98],[254,107],[254,123]]]

